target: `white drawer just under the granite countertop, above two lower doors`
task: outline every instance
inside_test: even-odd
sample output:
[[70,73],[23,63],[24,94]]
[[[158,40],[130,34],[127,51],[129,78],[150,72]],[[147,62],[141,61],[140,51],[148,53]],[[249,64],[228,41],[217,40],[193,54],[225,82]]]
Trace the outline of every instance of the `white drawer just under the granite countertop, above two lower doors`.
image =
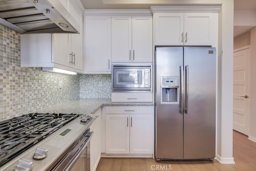
[[106,106],[106,114],[149,114],[154,113],[154,106]]

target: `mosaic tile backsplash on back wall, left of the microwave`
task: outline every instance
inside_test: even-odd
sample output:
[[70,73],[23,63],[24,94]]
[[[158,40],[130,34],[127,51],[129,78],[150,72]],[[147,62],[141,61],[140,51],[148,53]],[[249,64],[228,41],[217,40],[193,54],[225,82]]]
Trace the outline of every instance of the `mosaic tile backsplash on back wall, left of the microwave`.
[[[102,82],[102,87],[99,82]],[[111,74],[80,75],[80,98],[111,98]]]

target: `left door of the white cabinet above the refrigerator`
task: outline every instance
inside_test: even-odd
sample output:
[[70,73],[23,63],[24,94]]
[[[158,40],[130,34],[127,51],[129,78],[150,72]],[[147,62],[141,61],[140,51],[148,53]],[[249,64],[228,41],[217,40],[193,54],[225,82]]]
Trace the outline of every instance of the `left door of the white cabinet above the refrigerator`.
[[183,45],[183,13],[156,13],[154,18],[155,45]]

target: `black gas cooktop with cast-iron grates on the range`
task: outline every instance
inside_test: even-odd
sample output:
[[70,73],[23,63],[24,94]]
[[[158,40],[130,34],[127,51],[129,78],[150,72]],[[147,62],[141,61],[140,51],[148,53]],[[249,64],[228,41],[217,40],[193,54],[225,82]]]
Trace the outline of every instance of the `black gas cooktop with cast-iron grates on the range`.
[[[29,113],[1,121],[0,166],[80,115],[82,114]],[[86,120],[86,117],[83,119]]]

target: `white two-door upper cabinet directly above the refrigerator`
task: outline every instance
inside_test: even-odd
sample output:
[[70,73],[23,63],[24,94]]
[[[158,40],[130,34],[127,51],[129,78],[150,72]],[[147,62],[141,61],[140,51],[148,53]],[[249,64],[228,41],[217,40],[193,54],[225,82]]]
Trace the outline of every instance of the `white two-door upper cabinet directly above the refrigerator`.
[[216,14],[155,13],[155,45],[215,46],[218,37]]

